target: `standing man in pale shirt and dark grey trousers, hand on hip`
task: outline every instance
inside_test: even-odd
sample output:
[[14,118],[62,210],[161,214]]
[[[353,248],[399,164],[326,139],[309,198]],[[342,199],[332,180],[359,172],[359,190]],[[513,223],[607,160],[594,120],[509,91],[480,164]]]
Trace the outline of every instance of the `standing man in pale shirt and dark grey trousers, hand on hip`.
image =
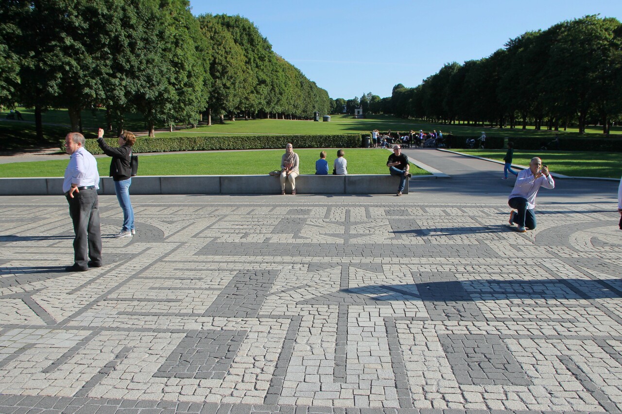
[[[95,157],[84,147],[84,136],[70,132],[65,137],[65,151],[70,154],[65,168],[63,193],[69,203],[73,222],[73,265],[67,272],[84,272],[89,267],[101,267],[100,209],[97,190],[100,174]],[[88,259],[87,260],[87,253]]]

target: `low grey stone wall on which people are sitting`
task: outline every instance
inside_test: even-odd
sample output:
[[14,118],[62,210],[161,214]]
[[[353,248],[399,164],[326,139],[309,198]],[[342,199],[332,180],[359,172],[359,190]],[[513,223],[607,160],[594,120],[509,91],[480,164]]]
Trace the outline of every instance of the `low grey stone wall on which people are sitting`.
[[[434,178],[415,176],[418,178]],[[399,177],[391,175],[299,175],[299,194],[395,194]],[[60,195],[63,178],[0,178],[0,195]],[[287,192],[291,191],[289,183]],[[130,192],[158,194],[279,194],[279,177],[269,175],[167,175],[132,178]],[[114,195],[110,177],[100,180],[100,195]],[[408,180],[404,194],[408,193]]]

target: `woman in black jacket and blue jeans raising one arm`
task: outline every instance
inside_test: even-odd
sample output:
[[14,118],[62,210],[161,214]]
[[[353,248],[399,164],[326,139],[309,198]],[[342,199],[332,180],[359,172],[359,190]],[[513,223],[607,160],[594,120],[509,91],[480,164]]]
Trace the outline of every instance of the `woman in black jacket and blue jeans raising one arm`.
[[114,193],[119,200],[119,206],[123,209],[123,228],[114,237],[131,237],[136,234],[134,230],[134,209],[129,201],[129,186],[132,184],[132,168],[129,165],[132,155],[132,145],[136,142],[136,136],[131,132],[124,131],[119,136],[119,147],[113,148],[104,141],[104,130],[99,129],[97,144],[104,154],[113,157],[110,162],[110,177],[114,180]]

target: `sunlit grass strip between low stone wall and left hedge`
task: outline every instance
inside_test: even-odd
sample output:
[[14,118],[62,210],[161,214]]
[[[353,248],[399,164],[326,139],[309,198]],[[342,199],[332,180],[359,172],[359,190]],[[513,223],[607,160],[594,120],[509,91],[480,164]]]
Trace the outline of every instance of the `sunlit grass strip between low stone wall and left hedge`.
[[[315,173],[315,161],[322,149],[295,149],[300,157],[300,173]],[[336,149],[327,152],[329,172],[337,158]],[[386,149],[345,149],[350,174],[387,174],[386,162],[391,151]],[[267,174],[281,168],[284,150],[218,151],[140,155],[139,175],[239,175]],[[67,155],[68,157],[68,155]],[[62,177],[68,160],[16,162],[0,164],[0,177]],[[109,157],[98,157],[101,177],[108,177]],[[428,172],[411,165],[413,175]]]

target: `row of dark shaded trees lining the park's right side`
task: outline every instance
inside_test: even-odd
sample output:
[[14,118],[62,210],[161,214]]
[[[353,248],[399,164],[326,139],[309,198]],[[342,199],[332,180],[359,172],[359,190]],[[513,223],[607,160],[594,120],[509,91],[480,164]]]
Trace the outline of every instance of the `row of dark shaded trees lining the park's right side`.
[[390,98],[364,94],[335,99],[332,108],[339,113],[363,98],[365,113],[523,129],[528,122],[555,130],[572,123],[581,133],[600,123],[608,134],[622,115],[622,25],[585,16],[526,32],[490,57],[447,63],[419,86],[399,83]]

